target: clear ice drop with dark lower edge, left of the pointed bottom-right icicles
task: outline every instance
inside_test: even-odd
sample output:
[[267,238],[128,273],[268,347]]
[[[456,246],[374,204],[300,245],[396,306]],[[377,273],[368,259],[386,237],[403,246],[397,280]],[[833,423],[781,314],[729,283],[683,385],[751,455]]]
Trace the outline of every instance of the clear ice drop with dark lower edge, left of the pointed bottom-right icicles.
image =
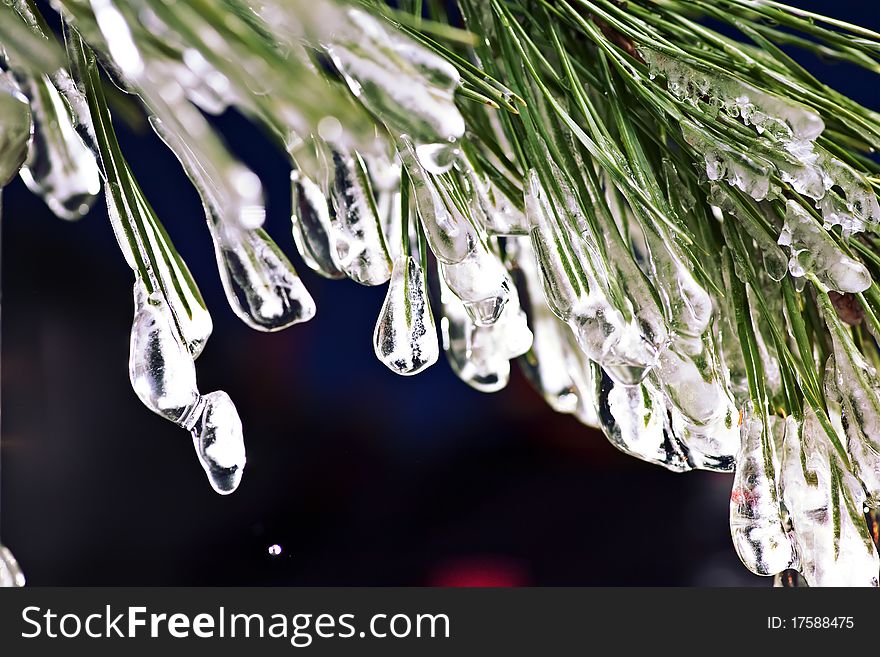
[[666,402],[650,381],[625,386],[600,372],[598,410],[602,431],[625,454],[684,472],[687,448],[668,430]]

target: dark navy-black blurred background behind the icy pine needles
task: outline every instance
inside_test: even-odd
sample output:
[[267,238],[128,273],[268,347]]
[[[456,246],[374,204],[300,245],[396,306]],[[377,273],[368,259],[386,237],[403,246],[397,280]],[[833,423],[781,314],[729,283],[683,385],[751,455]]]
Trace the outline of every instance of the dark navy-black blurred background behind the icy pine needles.
[[[871,0],[793,0],[880,29]],[[880,109],[876,76],[796,53]],[[384,287],[296,257],[289,168],[238,116],[217,121],[263,179],[267,228],[318,305],[278,334],[226,304],[202,208],[144,125],[134,171],[212,311],[197,361],[245,426],[239,490],[213,493],[189,435],[128,381],[132,274],[103,200],[65,223],[3,193],[2,534],[33,585],[769,585],[730,544],[731,477],[675,475],[553,413],[518,371],[485,395],[444,358],[415,378],[373,356]]]

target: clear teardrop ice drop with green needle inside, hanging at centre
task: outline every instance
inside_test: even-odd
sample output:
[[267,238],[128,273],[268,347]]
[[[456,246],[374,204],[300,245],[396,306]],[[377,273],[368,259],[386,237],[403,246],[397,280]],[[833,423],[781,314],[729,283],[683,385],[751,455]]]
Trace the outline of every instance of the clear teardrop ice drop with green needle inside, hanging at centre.
[[388,369],[403,376],[418,374],[440,356],[425,273],[412,256],[401,255],[394,263],[373,349]]

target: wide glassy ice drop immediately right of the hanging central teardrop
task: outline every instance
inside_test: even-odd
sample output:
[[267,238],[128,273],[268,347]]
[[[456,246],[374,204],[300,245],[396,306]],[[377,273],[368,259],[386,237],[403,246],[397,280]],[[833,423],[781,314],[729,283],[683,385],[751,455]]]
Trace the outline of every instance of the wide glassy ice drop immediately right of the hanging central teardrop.
[[532,346],[532,333],[519,305],[516,289],[501,316],[491,326],[478,326],[461,300],[440,278],[443,349],[452,370],[472,388],[496,392],[507,385],[510,360]]

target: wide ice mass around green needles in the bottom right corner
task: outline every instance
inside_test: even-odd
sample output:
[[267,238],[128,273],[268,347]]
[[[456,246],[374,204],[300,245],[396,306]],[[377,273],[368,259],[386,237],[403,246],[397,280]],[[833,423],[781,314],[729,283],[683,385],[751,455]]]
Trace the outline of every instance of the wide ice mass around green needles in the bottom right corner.
[[810,586],[878,585],[880,559],[862,516],[864,493],[811,408],[786,424],[779,487],[798,570]]

